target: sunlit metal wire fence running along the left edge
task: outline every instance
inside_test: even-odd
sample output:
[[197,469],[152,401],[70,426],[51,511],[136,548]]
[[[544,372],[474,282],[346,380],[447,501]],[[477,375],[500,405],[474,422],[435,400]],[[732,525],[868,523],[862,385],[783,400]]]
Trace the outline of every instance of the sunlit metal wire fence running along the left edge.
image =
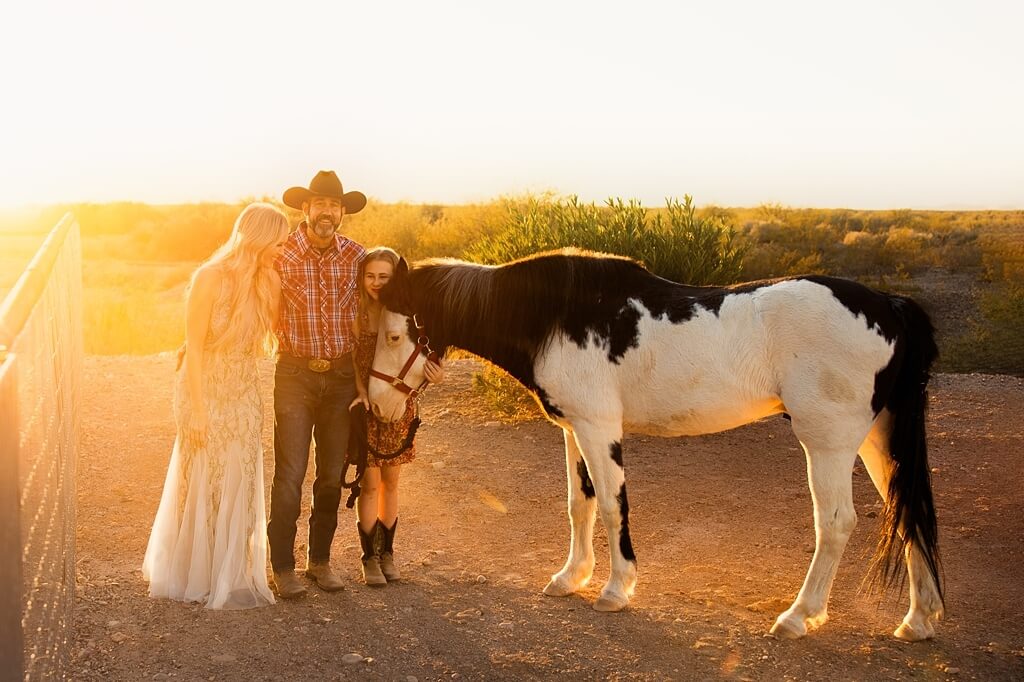
[[82,248],[69,214],[0,305],[0,679],[71,676]]

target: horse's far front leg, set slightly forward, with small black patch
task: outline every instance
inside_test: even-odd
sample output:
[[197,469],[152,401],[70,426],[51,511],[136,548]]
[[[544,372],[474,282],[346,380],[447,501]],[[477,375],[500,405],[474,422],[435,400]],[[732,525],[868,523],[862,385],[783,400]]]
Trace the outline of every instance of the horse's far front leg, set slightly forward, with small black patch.
[[590,581],[594,573],[594,513],[597,509],[594,484],[583,460],[575,436],[562,429],[565,436],[565,477],[569,496],[569,556],[565,565],[551,577],[544,594],[565,597]]

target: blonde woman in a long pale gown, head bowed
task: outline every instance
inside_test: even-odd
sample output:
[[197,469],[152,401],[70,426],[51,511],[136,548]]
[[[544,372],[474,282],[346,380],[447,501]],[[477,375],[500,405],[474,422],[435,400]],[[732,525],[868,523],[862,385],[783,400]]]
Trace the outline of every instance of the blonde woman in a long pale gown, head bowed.
[[273,262],[287,237],[284,213],[250,204],[193,275],[174,391],[177,438],[142,562],[152,597],[208,608],[273,603],[258,360],[275,348]]

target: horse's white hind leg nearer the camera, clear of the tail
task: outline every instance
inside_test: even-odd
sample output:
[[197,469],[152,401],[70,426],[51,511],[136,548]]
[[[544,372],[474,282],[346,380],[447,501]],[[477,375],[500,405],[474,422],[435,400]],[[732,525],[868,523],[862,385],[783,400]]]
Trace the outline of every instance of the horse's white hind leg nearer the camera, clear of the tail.
[[[869,418],[868,418],[869,419]],[[852,424],[847,429],[836,429],[835,418],[816,419],[808,427],[793,418],[793,430],[800,438],[807,456],[807,476],[814,503],[814,557],[804,579],[796,601],[779,614],[772,626],[773,635],[785,638],[803,637],[828,620],[828,594],[843,550],[857,525],[853,507],[853,463],[857,443],[867,431],[869,422],[859,436]],[[825,430],[849,431],[826,433]]]

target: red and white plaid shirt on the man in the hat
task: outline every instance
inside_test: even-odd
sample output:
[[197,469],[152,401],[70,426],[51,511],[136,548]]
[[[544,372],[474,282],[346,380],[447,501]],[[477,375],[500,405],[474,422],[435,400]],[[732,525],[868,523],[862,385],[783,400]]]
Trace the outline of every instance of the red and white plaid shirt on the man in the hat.
[[297,357],[334,359],[352,350],[352,323],[359,297],[355,282],[366,250],[335,235],[325,251],[315,248],[303,221],[288,236],[274,266],[281,272],[281,351]]

